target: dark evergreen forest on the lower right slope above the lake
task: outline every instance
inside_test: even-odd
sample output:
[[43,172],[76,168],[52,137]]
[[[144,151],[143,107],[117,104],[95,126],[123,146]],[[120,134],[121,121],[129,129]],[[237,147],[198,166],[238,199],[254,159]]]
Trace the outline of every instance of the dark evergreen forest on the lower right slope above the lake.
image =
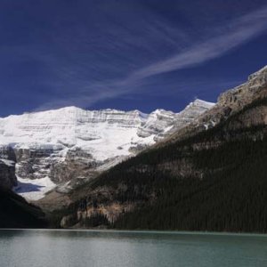
[[155,190],[160,192],[156,202],[124,214],[114,227],[266,232],[266,152],[266,140],[229,143],[220,151],[199,152],[194,158],[198,167],[218,170],[200,180],[166,175],[167,182],[156,183]]

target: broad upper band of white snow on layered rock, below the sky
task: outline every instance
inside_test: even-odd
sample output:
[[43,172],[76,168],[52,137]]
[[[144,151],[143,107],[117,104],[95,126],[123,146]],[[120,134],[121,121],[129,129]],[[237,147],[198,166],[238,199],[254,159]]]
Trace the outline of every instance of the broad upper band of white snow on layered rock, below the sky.
[[21,150],[62,150],[61,154],[80,147],[91,152],[93,158],[105,160],[128,155],[135,143],[152,144],[153,137],[166,133],[166,128],[189,123],[212,105],[196,100],[176,114],[164,109],[147,115],[139,110],[68,107],[4,117],[0,118],[0,145]]

